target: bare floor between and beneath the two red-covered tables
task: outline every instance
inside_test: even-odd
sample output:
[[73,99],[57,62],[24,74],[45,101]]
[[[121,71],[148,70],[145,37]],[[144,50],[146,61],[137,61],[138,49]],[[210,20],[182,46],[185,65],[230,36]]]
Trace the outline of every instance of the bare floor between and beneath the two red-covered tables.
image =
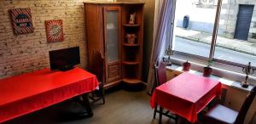
[[[153,119],[154,110],[150,108],[149,99],[145,91],[118,89],[106,95],[106,104],[92,106],[94,116],[91,118],[67,119],[64,113],[81,110],[81,107],[64,102],[4,124],[157,124],[159,116]],[[172,124],[173,121],[164,116],[162,123]]]

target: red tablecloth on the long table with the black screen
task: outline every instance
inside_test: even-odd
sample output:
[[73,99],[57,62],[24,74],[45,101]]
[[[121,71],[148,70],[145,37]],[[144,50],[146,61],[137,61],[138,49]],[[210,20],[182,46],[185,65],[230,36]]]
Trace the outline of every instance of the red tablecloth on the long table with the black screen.
[[96,76],[75,68],[38,70],[0,80],[0,123],[96,89]]

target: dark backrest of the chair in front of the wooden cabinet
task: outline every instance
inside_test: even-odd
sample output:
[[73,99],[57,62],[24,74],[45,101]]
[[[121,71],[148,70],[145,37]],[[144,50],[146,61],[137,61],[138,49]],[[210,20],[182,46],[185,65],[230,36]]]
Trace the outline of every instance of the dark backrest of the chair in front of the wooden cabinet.
[[99,51],[94,53],[93,62],[91,72],[97,76],[99,82],[104,82],[104,59]]

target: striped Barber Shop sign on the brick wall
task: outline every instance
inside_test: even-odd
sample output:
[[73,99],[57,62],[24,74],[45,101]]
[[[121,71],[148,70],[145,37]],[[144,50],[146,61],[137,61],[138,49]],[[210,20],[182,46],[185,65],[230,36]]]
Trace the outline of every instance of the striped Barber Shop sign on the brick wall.
[[9,10],[12,17],[15,35],[32,33],[32,14],[30,8],[15,8]]

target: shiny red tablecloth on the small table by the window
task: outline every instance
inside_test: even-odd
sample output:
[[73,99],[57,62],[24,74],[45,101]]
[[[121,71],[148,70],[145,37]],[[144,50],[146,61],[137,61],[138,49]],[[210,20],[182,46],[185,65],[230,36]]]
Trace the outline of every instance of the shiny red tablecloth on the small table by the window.
[[197,121],[197,114],[220,94],[220,82],[184,72],[156,87],[150,105],[154,108],[155,104],[160,104],[194,123]]

